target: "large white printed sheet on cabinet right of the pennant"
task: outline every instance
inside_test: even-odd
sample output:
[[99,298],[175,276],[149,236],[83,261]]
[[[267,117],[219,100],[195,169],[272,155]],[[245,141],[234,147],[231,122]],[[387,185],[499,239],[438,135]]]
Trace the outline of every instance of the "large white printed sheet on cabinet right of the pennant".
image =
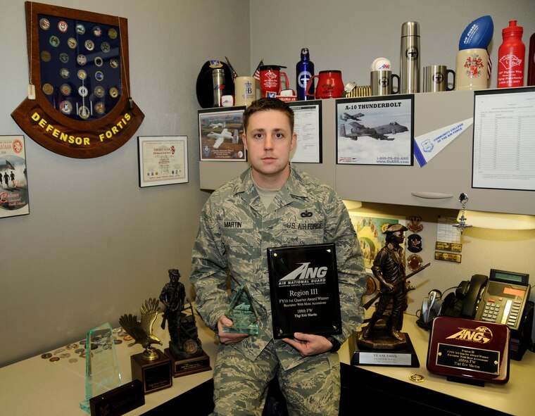
[[535,191],[535,88],[474,92],[472,187]]

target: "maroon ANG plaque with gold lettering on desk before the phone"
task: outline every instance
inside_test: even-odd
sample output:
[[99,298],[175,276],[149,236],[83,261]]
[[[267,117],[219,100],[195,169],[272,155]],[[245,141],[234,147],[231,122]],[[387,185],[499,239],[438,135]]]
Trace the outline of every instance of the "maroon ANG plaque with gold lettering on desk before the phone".
[[505,324],[439,316],[429,338],[427,370],[466,384],[507,383],[509,343]]

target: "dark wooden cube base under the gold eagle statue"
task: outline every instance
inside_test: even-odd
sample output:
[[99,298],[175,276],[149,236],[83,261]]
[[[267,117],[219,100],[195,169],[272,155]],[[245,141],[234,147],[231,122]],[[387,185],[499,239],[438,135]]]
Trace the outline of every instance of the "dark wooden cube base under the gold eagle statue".
[[156,360],[147,361],[144,353],[134,354],[130,357],[132,367],[132,380],[143,383],[143,392],[152,393],[172,386],[171,360],[167,355],[158,352]]

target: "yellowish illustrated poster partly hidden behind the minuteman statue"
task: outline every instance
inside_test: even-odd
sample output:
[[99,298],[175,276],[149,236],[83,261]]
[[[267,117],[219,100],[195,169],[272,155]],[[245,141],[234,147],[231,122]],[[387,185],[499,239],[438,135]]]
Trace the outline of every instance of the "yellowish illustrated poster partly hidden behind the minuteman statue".
[[367,272],[371,272],[373,260],[385,243],[384,231],[392,224],[406,225],[405,217],[370,213],[349,213],[349,216],[357,232],[364,265]]

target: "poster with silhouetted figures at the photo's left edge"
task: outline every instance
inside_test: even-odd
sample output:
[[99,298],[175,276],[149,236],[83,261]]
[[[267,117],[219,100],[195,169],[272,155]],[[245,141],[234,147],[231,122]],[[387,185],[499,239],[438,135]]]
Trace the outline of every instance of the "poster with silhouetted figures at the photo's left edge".
[[24,136],[0,136],[0,218],[30,213]]

